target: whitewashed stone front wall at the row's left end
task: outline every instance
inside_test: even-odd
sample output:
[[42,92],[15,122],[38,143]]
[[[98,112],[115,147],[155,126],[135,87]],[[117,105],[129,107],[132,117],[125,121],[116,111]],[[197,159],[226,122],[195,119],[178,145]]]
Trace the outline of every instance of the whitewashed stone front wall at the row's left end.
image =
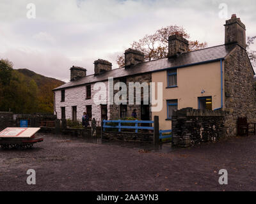
[[[106,100],[108,103],[108,82],[103,82],[106,85]],[[81,121],[83,112],[86,112],[86,105],[92,105],[92,118],[101,121],[100,105],[95,104],[93,96],[99,92],[93,90],[94,84],[91,85],[92,98],[86,99],[86,86],[79,86],[65,89],[65,101],[61,102],[61,91],[55,91],[55,112],[57,118],[61,119],[61,107],[66,109],[66,119],[72,119],[72,106],[77,106],[77,120]],[[109,104],[108,104],[109,118]]]

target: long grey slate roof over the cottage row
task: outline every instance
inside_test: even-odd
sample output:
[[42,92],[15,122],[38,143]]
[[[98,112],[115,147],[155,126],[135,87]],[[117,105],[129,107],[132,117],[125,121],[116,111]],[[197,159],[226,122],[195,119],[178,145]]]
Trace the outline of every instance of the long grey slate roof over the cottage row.
[[168,68],[177,68],[182,66],[189,66],[192,64],[203,64],[211,61],[217,61],[224,59],[233,48],[236,47],[236,43],[230,45],[218,45],[215,47],[204,48],[192,52],[186,52],[175,58],[168,59],[156,59],[154,61],[143,62],[132,66],[131,68],[118,68],[111,71],[106,71],[100,75],[88,75],[78,80],[63,84],[53,91],[58,89],[65,89],[68,87],[74,87],[78,85],[90,84],[92,82],[100,82],[108,80],[108,77],[120,78],[129,75],[137,75],[141,73],[148,73],[154,71],[162,71]]

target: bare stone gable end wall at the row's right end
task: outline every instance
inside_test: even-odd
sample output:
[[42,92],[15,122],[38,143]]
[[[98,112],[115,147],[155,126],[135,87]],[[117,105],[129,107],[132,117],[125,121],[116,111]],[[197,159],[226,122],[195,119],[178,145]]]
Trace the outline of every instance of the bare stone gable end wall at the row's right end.
[[236,136],[238,117],[256,122],[256,91],[246,50],[237,47],[225,59],[225,126],[227,136]]

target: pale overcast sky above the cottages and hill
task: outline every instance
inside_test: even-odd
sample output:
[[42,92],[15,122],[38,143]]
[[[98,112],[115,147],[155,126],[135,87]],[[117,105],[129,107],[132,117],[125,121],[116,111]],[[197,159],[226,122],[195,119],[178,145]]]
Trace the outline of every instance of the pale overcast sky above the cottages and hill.
[[[36,6],[36,18],[27,17],[29,3]],[[15,69],[67,82],[72,65],[92,74],[93,61],[100,58],[118,68],[116,55],[166,25],[183,26],[191,40],[207,41],[209,47],[221,45],[227,20],[219,15],[221,3],[228,18],[232,13],[241,18],[246,36],[256,35],[254,0],[1,0],[0,58]]]

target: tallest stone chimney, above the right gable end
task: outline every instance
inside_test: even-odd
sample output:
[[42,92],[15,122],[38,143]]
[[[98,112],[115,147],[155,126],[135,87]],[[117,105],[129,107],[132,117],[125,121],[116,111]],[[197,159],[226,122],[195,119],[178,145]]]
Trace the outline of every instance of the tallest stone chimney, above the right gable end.
[[238,43],[246,48],[245,25],[236,14],[232,14],[229,20],[226,20],[225,26],[225,44]]

